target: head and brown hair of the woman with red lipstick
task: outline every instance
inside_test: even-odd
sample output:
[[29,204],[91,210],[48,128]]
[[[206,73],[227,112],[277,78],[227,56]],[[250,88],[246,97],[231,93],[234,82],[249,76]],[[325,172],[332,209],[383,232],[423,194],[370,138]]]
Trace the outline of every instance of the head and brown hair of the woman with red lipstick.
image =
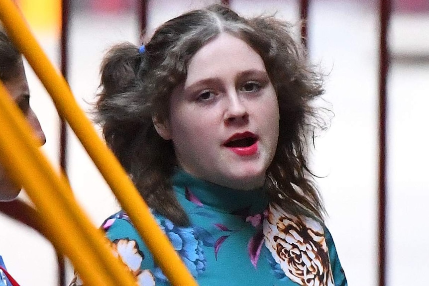
[[155,209],[171,217],[169,178],[179,166],[235,189],[265,182],[273,200],[321,216],[306,136],[322,80],[291,29],[213,5],[164,23],[143,53],[132,44],[110,50],[98,120]]

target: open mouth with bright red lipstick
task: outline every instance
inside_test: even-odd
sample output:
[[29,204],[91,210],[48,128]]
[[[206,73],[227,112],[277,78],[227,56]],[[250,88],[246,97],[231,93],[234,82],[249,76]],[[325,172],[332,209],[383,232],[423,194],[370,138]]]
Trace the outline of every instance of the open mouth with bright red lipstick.
[[223,143],[240,156],[250,156],[258,151],[258,137],[252,132],[236,133]]

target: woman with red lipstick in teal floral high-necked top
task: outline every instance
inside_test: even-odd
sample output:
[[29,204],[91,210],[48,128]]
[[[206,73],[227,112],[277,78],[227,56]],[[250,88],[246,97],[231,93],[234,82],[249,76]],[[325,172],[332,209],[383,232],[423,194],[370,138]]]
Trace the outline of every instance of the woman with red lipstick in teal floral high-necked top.
[[[190,11],[112,48],[101,87],[107,144],[199,285],[347,285],[306,157],[322,79],[288,23]],[[126,213],[103,228],[139,285],[170,285]]]

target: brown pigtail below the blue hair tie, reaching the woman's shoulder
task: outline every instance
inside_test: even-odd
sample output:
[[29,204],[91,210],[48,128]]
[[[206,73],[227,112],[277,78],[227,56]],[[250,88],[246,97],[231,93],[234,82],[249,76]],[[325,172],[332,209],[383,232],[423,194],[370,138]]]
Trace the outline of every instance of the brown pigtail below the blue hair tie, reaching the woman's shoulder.
[[101,67],[96,122],[149,207],[178,225],[189,225],[171,188],[172,143],[158,135],[152,122],[156,99],[147,88],[153,80],[147,78],[148,55],[130,43],[110,49]]

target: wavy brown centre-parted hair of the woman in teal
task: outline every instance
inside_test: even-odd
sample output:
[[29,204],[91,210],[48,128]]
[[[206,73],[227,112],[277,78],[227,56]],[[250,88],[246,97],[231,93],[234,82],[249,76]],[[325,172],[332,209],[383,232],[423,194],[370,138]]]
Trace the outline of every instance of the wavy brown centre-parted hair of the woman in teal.
[[273,16],[243,18],[225,6],[212,5],[164,23],[142,53],[130,43],[114,46],[102,64],[96,105],[107,144],[151,208],[176,223],[189,224],[172,191],[173,144],[158,135],[152,117],[168,118],[170,96],[186,80],[189,60],[220,33],[242,39],[261,56],[278,96],[280,135],[266,173],[271,201],[287,211],[323,219],[307,162],[309,140],[317,128],[324,128],[312,106],[323,93],[322,78],[293,39],[292,26]]

